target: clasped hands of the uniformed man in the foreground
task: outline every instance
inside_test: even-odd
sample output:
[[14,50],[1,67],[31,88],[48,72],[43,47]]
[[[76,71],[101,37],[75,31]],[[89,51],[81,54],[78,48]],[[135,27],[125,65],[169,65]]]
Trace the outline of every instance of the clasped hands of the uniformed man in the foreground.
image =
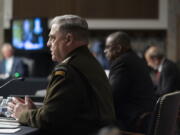
[[15,119],[19,119],[22,112],[35,108],[36,106],[28,96],[25,96],[25,100],[22,98],[13,97],[12,101],[8,103],[8,111],[12,113],[11,116]]

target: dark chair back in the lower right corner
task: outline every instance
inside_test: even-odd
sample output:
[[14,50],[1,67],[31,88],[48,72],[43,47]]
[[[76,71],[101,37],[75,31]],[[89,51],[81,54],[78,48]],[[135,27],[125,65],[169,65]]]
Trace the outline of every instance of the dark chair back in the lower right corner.
[[175,135],[180,91],[161,96],[155,106],[147,135]]

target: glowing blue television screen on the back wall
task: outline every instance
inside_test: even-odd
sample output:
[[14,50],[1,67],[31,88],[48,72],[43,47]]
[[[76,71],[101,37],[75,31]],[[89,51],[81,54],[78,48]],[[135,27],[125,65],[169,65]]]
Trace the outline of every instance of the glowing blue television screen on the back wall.
[[46,49],[48,25],[46,18],[12,19],[12,45],[17,51]]

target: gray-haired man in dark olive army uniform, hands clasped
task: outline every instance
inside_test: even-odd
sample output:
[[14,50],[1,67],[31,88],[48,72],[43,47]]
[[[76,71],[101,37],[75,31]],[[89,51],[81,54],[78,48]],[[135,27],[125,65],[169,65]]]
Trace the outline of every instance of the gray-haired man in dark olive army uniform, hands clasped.
[[59,62],[52,72],[44,105],[13,98],[9,110],[21,124],[60,135],[88,135],[112,124],[115,119],[108,79],[87,48],[88,24],[79,16],[55,17],[47,46],[52,60]]

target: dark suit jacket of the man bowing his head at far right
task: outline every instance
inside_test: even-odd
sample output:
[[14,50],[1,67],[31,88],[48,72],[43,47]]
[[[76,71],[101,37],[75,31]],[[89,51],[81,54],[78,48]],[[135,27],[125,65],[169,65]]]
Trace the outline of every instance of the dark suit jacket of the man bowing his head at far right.
[[180,90],[180,72],[174,62],[165,59],[162,65],[156,94],[159,97],[175,90]]

